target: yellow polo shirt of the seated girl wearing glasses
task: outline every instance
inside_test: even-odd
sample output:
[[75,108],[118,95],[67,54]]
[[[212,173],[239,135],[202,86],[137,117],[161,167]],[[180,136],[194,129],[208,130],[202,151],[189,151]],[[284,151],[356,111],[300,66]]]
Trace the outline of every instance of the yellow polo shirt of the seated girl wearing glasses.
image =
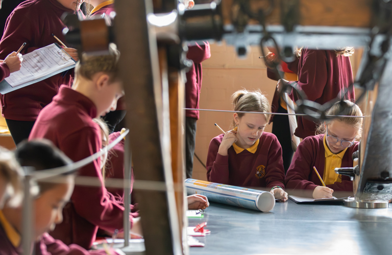
[[333,154],[331,150],[329,150],[326,143],[326,135],[324,136],[324,149],[325,149],[325,167],[324,167],[324,175],[323,181],[325,185],[334,184],[335,182],[341,183],[341,175],[335,173],[335,168],[341,167],[341,160],[345,156],[346,150],[340,151],[338,154]]

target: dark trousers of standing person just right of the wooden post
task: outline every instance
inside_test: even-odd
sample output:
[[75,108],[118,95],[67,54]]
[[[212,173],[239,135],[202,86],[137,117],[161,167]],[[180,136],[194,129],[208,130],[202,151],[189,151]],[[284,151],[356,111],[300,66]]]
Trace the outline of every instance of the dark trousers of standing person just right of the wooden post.
[[196,121],[197,119],[185,117],[185,165],[186,178],[192,178],[193,154],[196,143]]

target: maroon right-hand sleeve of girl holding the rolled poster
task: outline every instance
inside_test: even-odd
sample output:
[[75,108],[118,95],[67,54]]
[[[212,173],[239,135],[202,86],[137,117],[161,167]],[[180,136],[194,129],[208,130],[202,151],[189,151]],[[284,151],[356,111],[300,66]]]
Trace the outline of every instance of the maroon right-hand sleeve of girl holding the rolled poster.
[[284,168],[282,159],[282,147],[275,137],[268,150],[267,168],[265,171],[267,188],[280,186],[284,189]]

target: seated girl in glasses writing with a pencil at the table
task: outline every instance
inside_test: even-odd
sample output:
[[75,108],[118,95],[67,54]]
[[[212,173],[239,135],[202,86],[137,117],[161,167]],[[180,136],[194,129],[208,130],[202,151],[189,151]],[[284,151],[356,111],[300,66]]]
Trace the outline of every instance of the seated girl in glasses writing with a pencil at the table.
[[[348,107],[344,115],[362,116],[357,105],[349,100],[334,104],[327,112],[337,115]],[[320,135],[305,138],[298,146],[287,171],[286,189],[313,198],[332,197],[334,191],[353,191],[349,176],[335,173],[336,167],[352,167],[353,152],[361,139],[362,118],[337,117],[320,124]],[[327,187],[317,177],[316,168]]]

